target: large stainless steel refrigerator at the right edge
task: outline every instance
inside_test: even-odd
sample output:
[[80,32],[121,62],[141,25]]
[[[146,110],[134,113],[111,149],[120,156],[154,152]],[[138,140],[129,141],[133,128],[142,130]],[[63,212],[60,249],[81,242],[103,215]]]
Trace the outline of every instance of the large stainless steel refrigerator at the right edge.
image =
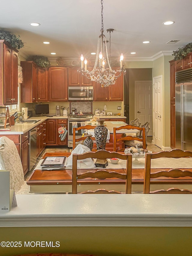
[[176,148],[192,151],[192,81],[176,83]]

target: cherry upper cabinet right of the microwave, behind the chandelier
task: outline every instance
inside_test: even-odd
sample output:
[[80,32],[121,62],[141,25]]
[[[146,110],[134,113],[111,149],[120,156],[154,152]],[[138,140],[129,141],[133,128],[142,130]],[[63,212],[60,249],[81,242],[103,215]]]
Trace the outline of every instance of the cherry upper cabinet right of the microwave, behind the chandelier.
[[109,87],[93,82],[94,101],[123,101],[123,74]]

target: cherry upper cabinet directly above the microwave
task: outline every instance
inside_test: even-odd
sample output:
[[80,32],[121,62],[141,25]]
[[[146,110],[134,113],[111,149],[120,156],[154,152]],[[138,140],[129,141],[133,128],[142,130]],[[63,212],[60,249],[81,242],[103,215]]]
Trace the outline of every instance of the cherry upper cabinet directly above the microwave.
[[91,79],[77,73],[78,69],[80,68],[76,66],[68,68],[68,85],[69,86],[92,86]]

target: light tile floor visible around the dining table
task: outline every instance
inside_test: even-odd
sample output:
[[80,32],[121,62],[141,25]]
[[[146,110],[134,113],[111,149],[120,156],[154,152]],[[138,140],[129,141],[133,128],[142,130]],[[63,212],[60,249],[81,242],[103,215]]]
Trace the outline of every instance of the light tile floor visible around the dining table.
[[[147,149],[152,151],[152,152],[159,152],[161,151],[161,148],[159,148],[158,146],[155,146],[154,144],[152,144],[152,136],[148,136],[147,137]],[[57,148],[45,148],[44,151],[41,153],[41,155],[38,157],[37,162],[35,164],[35,166],[38,164],[39,160],[41,160],[41,158],[43,157],[43,155],[46,152],[71,152],[72,149],[69,148],[61,148],[61,147],[57,147]],[[34,168],[35,168],[34,166]],[[31,176],[34,168],[32,168],[32,170],[28,173],[26,173],[25,175],[25,181],[28,181],[29,177]]]

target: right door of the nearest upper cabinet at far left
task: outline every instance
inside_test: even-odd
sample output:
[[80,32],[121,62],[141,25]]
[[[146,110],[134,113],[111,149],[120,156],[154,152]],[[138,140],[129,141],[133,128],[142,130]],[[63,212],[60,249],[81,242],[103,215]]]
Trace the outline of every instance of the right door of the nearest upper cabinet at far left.
[[18,103],[18,54],[12,49],[11,65],[12,65],[12,88],[11,103]]

